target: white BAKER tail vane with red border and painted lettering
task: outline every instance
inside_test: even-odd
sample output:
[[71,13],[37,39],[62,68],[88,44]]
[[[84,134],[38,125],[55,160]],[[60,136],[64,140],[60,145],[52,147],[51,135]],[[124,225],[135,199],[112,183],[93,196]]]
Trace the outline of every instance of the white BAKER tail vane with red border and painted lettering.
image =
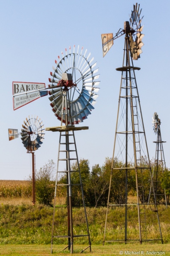
[[14,110],[46,96],[48,92],[43,89],[45,89],[44,83],[12,82]]

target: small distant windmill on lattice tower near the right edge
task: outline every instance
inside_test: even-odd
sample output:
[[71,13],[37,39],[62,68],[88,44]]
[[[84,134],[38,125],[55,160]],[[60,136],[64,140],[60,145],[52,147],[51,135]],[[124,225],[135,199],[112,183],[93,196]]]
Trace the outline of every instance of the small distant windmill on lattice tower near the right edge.
[[[156,152],[155,152],[155,161],[154,161],[154,169],[153,169],[153,187],[150,187],[150,193],[149,193],[149,199],[148,202],[150,202],[150,198],[153,195],[153,189],[156,196],[156,201],[159,203],[161,199],[164,199],[165,205],[167,207],[167,198],[166,198],[166,192],[164,190],[164,194],[159,191],[159,186],[161,183],[161,175],[167,171],[166,169],[166,163],[164,159],[164,149],[163,149],[163,143],[166,141],[162,141],[161,139],[161,120],[159,119],[158,114],[155,112],[153,114],[152,118],[153,123],[153,131],[155,134],[157,134],[157,140],[153,141],[153,143],[156,143]],[[161,194],[160,194],[161,193]]]

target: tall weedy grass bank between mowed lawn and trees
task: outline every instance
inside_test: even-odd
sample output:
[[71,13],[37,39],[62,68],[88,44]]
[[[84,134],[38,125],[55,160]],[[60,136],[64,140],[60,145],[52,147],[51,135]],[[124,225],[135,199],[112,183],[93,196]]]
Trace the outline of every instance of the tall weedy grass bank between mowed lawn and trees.
[[[164,243],[170,243],[170,208],[159,207],[159,217]],[[159,239],[158,226],[148,209],[149,223],[147,239]],[[88,225],[92,244],[102,244],[105,227],[105,207],[87,207]],[[0,244],[50,244],[53,207],[42,205],[0,205]],[[156,216],[156,215],[155,215]],[[73,208],[74,234],[86,234],[83,223],[83,208]],[[124,239],[125,215],[123,207],[116,207],[108,213],[106,239]],[[129,239],[139,239],[138,215],[134,208],[128,209],[127,222]],[[16,235],[17,234],[17,235]],[[54,235],[67,235],[67,209],[58,207],[55,215]],[[144,237],[143,237],[144,239]],[[65,239],[54,239],[54,244],[65,244]],[[87,237],[74,239],[74,244],[88,244]]]

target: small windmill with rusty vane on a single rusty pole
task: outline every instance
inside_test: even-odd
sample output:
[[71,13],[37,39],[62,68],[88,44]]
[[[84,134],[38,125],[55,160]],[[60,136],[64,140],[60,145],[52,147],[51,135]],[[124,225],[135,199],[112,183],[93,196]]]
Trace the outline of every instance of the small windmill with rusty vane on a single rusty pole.
[[22,125],[21,133],[17,129],[8,129],[9,140],[17,139],[21,135],[21,140],[27,153],[32,154],[32,204],[35,205],[35,156],[34,151],[40,148],[42,140],[44,139],[44,125],[40,119],[28,116]]

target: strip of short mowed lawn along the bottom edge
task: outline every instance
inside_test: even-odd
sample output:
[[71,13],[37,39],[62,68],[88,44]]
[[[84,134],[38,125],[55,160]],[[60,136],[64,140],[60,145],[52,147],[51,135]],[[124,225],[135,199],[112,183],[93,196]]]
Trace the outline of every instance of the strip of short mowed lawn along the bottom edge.
[[[54,245],[53,254],[50,253],[49,245],[0,245],[0,255],[4,256],[63,256],[70,254],[68,250],[62,251],[65,245]],[[85,245],[74,245],[74,254],[80,255],[80,251],[85,249]],[[170,256],[170,244],[107,244],[92,245],[92,252],[89,248],[81,255],[87,256],[109,256],[109,255],[166,255]]]

